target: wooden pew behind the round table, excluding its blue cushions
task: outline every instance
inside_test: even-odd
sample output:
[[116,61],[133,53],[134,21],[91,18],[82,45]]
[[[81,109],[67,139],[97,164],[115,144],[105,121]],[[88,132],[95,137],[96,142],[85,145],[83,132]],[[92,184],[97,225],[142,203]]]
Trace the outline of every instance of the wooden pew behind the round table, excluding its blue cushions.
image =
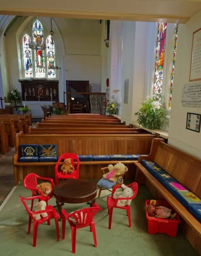
[[[15,136],[16,153],[13,156],[13,172],[15,185],[23,181],[27,173],[37,173],[39,176],[54,178],[54,163],[22,163],[19,162],[19,145],[57,145],[57,155],[73,152],[77,155],[132,155],[148,154],[151,141],[155,136],[152,134],[23,134]],[[101,168],[116,161],[90,161],[80,165],[80,178],[100,179]],[[125,162],[129,168],[129,178],[134,177],[134,160]]]

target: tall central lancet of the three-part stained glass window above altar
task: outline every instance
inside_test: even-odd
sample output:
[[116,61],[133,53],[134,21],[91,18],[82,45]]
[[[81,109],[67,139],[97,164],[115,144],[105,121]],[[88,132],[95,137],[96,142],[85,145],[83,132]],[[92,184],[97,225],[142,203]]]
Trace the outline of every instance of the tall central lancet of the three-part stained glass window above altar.
[[[33,23],[33,41],[43,44],[43,26],[39,20]],[[45,53],[44,50],[34,50],[35,77],[45,78]]]

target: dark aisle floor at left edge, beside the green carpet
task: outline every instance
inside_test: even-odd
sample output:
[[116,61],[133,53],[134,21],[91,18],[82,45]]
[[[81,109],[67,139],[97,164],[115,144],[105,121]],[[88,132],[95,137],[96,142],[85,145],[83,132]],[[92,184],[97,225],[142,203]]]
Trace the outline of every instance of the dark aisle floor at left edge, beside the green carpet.
[[0,205],[8,196],[14,186],[13,176],[13,154],[15,148],[10,150],[5,155],[0,155]]

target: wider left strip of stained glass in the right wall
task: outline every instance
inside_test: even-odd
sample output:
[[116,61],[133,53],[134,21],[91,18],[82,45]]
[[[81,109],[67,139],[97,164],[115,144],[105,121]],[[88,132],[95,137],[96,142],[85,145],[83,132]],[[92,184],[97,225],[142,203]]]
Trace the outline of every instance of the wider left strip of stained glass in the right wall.
[[158,23],[153,95],[161,102],[167,23]]

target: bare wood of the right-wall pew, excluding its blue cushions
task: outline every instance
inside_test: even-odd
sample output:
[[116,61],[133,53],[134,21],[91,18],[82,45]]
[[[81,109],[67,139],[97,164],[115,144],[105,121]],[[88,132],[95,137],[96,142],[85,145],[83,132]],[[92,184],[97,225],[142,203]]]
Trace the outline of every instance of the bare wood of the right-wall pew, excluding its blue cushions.
[[146,184],[156,199],[165,198],[180,214],[183,222],[183,231],[190,243],[201,252],[201,223],[189,210],[175,198],[175,196],[153,176],[141,161],[152,161],[175,178],[182,186],[193,192],[201,199],[201,160],[175,147],[165,144],[162,139],[153,139],[150,154],[141,155],[137,166],[135,181]]

